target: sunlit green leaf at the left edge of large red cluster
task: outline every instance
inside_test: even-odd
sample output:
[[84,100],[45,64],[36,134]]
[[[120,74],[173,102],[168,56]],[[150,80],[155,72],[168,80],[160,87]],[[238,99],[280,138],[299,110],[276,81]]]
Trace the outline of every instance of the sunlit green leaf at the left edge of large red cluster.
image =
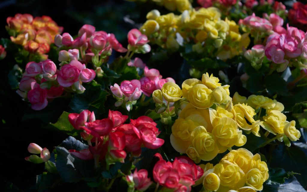
[[70,124],[69,120],[68,120],[68,115],[70,113],[63,111],[62,115],[60,116],[60,118],[58,119],[58,121],[56,123],[50,123],[50,125],[54,128],[56,128],[57,130],[60,130],[68,135],[72,135],[72,136],[77,136],[79,131],[76,130],[72,124]]

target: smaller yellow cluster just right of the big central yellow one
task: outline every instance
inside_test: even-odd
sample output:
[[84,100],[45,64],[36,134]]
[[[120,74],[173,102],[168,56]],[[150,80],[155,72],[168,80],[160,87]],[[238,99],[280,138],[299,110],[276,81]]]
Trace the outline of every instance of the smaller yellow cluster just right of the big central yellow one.
[[[272,100],[262,95],[251,95],[246,98],[236,92],[233,96],[233,103],[248,104],[257,110],[260,125],[267,133],[277,135],[279,140],[282,141],[284,135],[291,141],[297,141],[301,137],[301,132],[295,128],[295,121],[286,121],[286,115],[282,113],[284,106],[277,100]],[[262,109],[266,110],[266,115],[264,116],[261,116]]]

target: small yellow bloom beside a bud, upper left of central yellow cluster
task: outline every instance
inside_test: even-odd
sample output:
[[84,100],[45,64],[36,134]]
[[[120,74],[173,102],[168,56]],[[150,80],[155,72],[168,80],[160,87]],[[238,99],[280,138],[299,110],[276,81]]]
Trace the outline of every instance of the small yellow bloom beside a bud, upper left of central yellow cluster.
[[166,82],[161,88],[162,96],[168,102],[175,102],[181,99],[182,91],[180,87],[173,82]]

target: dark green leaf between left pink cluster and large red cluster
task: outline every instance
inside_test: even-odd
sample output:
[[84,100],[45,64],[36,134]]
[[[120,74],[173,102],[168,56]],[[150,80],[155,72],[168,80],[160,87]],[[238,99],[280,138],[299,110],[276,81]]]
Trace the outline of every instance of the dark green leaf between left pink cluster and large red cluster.
[[86,88],[83,94],[75,94],[69,103],[73,113],[80,113],[84,109],[94,111],[95,115],[105,113],[104,102],[110,95],[96,81],[84,85]]

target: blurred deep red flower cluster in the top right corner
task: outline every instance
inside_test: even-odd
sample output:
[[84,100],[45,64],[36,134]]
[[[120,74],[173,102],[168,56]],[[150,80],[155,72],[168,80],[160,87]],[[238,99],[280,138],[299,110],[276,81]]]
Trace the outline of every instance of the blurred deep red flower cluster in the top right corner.
[[289,20],[295,25],[307,25],[307,4],[293,3],[293,9],[289,10]]

